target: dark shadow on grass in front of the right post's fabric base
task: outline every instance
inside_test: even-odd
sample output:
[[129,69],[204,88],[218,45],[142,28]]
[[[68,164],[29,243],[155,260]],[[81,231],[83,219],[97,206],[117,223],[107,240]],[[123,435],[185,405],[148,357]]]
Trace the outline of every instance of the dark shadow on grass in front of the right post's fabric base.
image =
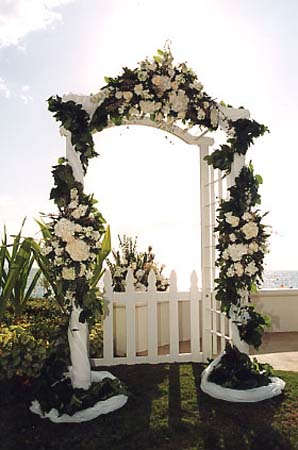
[[[258,403],[230,403],[214,399],[200,388],[202,365],[193,364],[200,435],[205,450],[291,450],[285,432],[274,422],[284,394]],[[296,448],[296,447],[295,447]]]

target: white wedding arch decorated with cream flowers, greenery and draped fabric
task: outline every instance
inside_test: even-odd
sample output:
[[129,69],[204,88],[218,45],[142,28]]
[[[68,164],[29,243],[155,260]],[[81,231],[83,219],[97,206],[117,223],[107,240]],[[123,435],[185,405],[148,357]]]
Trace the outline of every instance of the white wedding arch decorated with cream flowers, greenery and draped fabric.
[[[95,261],[102,264],[105,258],[107,236],[93,196],[84,193],[84,175],[89,160],[97,156],[92,135],[106,128],[154,127],[199,150],[200,267],[207,305],[203,314],[203,358],[207,360],[213,353],[214,292],[222,312],[232,319],[232,339],[240,352],[248,354],[248,344],[260,345],[266,325],[249,303],[250,292],[262,278],[268,235],[256,208],[261,179],[254,175],[251,164],[245,164],[245,154],[254,138],[267,128],[251,120],[247,110],[225,106],[209,97],[186,64],[174,66],[168,49],[159,50],[153,60],[140,62],[134,70],[124,68],[122,75],[105,80],[107,85],[95,95],[68,94],[48,100],[49,110],[61,123],[61,134],[66,138],[66,157],[53,170],[51,198],[59,215],[48,228],[44,254],[53,267],[56,292],[70,315],[72,386],[84,390],[92,382],[87,319],[100,306],[97,282],[101,271]],[[213,150],[214,140],[206,134],[219,128],[227,140]],[[216,331],[213,333],[216,339]],[[205,390],[208,392],[208,387]],[[119,398],[117,407],[124,402],[123,396]]]

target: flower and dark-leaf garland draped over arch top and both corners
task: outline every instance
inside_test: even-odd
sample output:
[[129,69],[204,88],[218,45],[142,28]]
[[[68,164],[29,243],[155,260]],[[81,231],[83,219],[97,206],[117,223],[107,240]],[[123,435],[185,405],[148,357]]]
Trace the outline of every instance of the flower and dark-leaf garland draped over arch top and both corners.
[[59,96],[49,98],[49,110],[70,131],[72,145],[80,154],[85,172],[89,159],[98,156],[92,133],[127,120],[149,118],[156,123],[166,122],[168,126],[184,124],[188,128],[198,126],[210,131],[221,127],[227,133],[227,142],[206,160],[227,172],[234,154],[245,155],[254,138],[268,131],[255,120],[231,120],[224,104],[204,91],[191,68],[185,63],[173,64],[169,48],[157,53],[152,60],[141,61],[133,70],[125,67],[121,75],[105,77],[107,84],[90,96],[91,106],[63,101]]

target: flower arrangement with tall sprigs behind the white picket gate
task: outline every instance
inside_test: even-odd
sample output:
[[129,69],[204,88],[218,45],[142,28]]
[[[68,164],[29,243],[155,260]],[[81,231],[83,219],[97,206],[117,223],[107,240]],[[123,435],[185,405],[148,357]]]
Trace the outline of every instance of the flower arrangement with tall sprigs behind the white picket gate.
[[133,239],[124,235],[122,238],[118,236],[118,239],[120,250],[112,250],[113,261],[107,259],[113,280],[113,290],[115,292],[125,291],[127,271],[132,269],[136,291],[146,291],[151,270],[155,274],[157,291],[166,291],[169,281],[162,273],[165,266],[155,262],[152,247],[149,246],[147,252],[139,252],[137,237]]

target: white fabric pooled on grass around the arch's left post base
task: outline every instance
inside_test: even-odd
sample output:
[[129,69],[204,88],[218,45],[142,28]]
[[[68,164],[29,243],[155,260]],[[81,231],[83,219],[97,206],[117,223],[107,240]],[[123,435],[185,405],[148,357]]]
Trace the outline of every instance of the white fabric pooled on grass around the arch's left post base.
[[[101,381],[104,378],[110,378],[114,380],[116,377],[112,375],[110,372],[101,371],[91,372],[91,378],[93,382]],[[69,416],[68,414],[63,414],[62,416],[58,415],[58,411],[56,409],[51,409],[48,413],[42,414],[40,409],[39,402],[34,400],[30,406],[30,411],[34,414],[38,414],[42,419],[49,419],[51,422],[55,423],[80,423],[87,422],[88,420],[95,419],[96,417],[102,414],[108,414],[110,412],[116,411],[116,409],[122,408],[127,402],[127,396],[120,394],[115,395],[114,397],[108,398],[107,400],[103,400],[97,402],[92,408],[87,408],[82,411],[77,411],[73,416]]]

